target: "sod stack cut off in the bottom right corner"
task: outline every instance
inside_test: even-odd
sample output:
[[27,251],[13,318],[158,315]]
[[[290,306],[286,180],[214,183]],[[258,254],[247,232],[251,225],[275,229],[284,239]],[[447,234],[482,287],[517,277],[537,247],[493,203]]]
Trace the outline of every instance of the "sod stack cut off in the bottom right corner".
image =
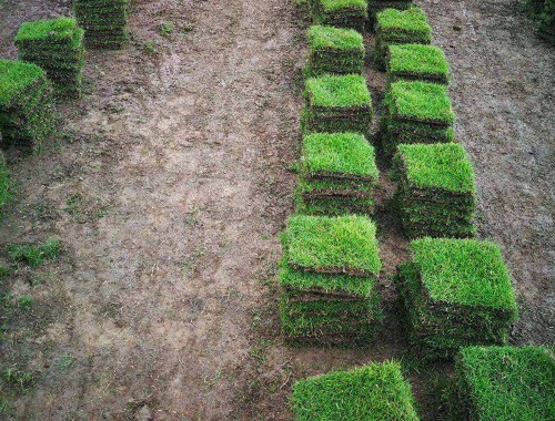
[[555,417],[555,356],[543,347],[468,347],[455,359],[453,421]]

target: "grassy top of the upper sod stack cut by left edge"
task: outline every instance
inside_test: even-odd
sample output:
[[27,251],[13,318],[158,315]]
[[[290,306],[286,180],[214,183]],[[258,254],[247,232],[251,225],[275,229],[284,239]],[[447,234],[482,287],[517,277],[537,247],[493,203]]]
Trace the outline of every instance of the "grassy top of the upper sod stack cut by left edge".
[[38,65],[0,59],[0,107],[10,105],[41,78],[44,71]]

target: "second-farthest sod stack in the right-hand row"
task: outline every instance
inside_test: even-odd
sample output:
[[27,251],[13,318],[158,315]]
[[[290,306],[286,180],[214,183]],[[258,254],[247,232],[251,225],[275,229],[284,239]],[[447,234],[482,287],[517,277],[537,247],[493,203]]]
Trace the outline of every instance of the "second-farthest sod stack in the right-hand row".
[[385,9],[376,14],[376,44],[374,63],[384,69],[390,45],[430,44],[432,29],[420,8],[407,10]]

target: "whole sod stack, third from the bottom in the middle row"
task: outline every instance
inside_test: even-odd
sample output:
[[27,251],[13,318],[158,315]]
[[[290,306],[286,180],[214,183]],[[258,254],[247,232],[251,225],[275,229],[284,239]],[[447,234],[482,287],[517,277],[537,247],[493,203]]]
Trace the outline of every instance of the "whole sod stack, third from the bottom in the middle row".
[[369,214],[379,171],[374,147],[359,133],[313,133],[303,138],[297,212]]

